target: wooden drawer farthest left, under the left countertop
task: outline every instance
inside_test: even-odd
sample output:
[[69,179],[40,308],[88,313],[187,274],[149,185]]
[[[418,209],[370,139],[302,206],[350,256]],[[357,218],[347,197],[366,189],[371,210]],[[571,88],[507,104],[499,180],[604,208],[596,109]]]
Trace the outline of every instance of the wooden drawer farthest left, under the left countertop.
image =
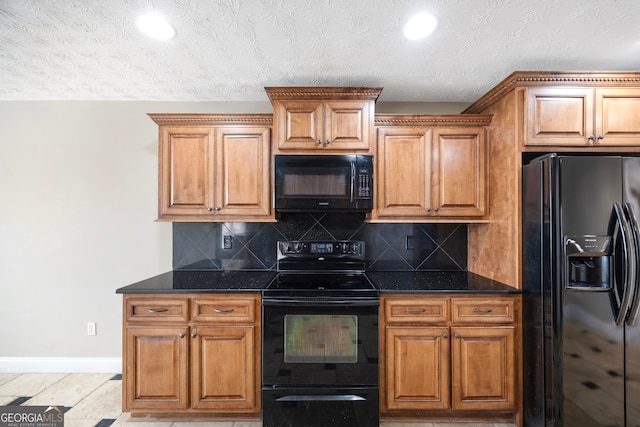
[[125,298],[127,322],[187,322],[189,304],[186,298]]

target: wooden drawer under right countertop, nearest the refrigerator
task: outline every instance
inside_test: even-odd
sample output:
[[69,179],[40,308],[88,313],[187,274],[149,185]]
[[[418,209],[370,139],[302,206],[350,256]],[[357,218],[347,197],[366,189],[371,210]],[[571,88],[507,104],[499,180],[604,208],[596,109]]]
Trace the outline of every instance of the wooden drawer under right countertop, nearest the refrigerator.
[[514,299],[454,298],[452,320],[455,323],[513,323],[516,321]]

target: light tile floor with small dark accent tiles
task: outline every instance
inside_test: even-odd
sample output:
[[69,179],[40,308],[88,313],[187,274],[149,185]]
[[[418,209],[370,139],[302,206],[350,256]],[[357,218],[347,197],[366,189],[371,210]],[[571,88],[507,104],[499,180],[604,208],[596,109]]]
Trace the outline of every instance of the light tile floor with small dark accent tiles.
[[[2,374],[0,406],[65,407],[65,427],[261,427],[259,422],[128,422],[122,413],[122,381],[113,374]],[[381,427],[513,427],[513,424],[399,423]],[[301,426],[304,427],[304,426]]]

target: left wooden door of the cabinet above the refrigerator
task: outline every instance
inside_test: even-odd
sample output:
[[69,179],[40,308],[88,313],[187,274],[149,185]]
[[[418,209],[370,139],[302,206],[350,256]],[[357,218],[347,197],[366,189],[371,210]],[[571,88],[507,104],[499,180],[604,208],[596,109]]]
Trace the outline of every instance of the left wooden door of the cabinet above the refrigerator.
[[591,145],[594,90],[527,89],[526,145]]

